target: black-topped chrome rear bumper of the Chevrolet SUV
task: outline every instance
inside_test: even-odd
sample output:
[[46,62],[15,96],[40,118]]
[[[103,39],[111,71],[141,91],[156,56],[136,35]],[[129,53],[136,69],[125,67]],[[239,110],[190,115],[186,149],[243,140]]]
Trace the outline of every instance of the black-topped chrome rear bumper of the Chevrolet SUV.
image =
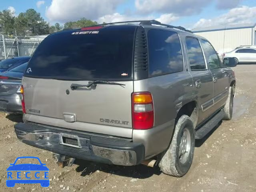
[[[18,123],[14,128],[23,143],[72,158],[132,166],[145,157],[144,145],[131,139],[34,123]],[[79,146],[60,144],[63,135],[77,138]]]

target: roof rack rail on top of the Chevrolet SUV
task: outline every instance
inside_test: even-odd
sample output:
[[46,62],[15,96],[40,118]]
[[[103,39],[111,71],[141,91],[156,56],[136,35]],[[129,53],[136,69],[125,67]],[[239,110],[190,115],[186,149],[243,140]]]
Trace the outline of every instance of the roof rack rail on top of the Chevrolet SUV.
[[179,29],[182,31],[186,31],[186,32],[190,32],[193,33],[190,30],[185,29],[184,27],[181,26],[172,26],[172,25],[168,25],[168,24],[163,24],[159,21],[156,20],[134,20],[134,21],[122,21],[122,22],[113,22],[113,23],[103,23],[103,24],[99,24],[99,25],[94,25],[94,26],[102,26],[102,25],[111,25],[111,24],[120,24],[120,23],[135,23],[135,22],[140,22],[141,26],[145,26],[145,25],[160,25],[160,26],[165,26],[167,28],[175,28],[175,29]]

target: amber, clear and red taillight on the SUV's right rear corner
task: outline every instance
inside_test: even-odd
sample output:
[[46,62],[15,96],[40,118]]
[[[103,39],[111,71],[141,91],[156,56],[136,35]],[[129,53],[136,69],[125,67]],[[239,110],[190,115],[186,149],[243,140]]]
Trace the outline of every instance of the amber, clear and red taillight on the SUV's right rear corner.
[[145,130],[153,126],[154,106],[151,93],[132,93],[132,128]]

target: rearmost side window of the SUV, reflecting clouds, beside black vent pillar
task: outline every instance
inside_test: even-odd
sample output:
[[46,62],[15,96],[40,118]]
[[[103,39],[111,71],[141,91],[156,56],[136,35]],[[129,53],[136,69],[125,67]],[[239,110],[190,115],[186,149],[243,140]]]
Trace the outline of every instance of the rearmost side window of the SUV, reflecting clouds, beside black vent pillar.
[[183,71],[180,38],[167,30],[148,31],[149,76]]

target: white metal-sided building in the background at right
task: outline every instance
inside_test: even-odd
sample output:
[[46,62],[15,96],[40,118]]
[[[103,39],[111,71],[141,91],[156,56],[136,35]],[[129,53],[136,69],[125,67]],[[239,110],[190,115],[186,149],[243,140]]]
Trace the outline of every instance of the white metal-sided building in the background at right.
[[241,45],[256,45],[256,24],[194,28],[192,32],[208,39],[219,53],[230,52]]

